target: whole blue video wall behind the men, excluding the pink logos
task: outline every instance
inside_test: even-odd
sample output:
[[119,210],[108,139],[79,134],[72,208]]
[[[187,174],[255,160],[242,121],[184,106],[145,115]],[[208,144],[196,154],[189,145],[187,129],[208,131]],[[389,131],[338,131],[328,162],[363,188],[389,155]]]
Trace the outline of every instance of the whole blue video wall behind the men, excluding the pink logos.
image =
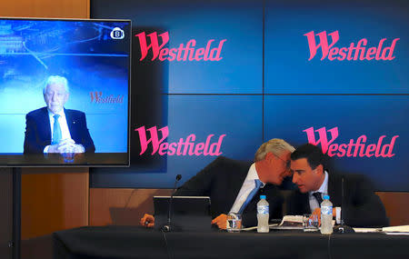
[[[219,62],[152,62],[147,57],[139,61],[140,43],[134,37],[134,68],[141,71],[144,65],[152,66],[150,70],[143,67],[149,70],[146,75],[134,71],[134,93],[141,93],[140,99],[158,93],[169,96],[153,105],[161,116],[151,116],[145,120],[148,123],[135,120],[131,130],[155,122],[160,127],[168,125],[168,142],[188,134],[196,134],[201,141],[208,134],[227,134],[224,155],[243,160],[253,159],[256,148],[274,137],[304,144],[307,136],[303,130],[309,127],[329,130],[337,126],[338,144],[356,141],[363,134],[368,144],[375,144],[382,135],[386,135],[384,141],[399,135],[394,157],[337,157],[335,167],[368,174],[379,190],[409,191],[409,176],[404,171],[409,150],[404,116],[409,98],[408,1],[119,0],[111,5],[109,0],[98,0],[91,1],[91,9],[95,18],[132,19],[135,34],[168,32],[170,40],[165,47],[185,45],[190,39],[195,39],[197,46],[210,39],[216,43],[227,40]],[[383,38],[384,47],[392,45],[395,38],[399,40],[391,61],[321,61],[320,49],[308,61],[310,50],[304,34],[311,31],[338,31],[339,41],[334,46],[339,48],[356,45],[363,38],[368,41],[367,48],[377,46]],[[320,43],[318,36],[315,39]],[[145,82],[151,78],[157,79],[152,87]],[[143,116],[144,110],[137,112]],[[145,110],[146,115],[151,112]],[[138,144],[133,148],[139,149]],[[131,155],[139,158],[135,152]],[[183,174],[185,182],[214,159],[159,158],[165,165],[96,168],[91,186],[169,188],[176,174]]]

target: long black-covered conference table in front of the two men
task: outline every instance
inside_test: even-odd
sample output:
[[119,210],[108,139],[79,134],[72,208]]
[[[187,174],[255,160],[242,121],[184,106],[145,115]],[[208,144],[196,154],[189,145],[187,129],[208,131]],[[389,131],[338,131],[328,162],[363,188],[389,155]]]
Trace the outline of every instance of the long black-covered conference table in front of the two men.
[[142,226],[85,226],[53,234],[54,258],[409,258],[409,235],[301,231],[163,233]]

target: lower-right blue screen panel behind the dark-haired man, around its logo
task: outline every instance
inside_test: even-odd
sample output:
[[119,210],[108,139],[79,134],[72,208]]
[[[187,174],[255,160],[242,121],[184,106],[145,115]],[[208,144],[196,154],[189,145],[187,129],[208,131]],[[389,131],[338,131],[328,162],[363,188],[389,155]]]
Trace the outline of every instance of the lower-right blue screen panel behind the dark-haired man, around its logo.
[[[367,174],[377,190],[409,191],[409,96],[266,96],[264,132],[266,139],[282,137],[294,146],[308,142],[305,129],[338,127],[334,144],[366,135],[366,144],[383,144],[395,139],[393,157],[338,157],[334,167],[345,173]],[[331,135],[328,139],[331,139]],[[318,134],[315,134],[318,139]]]

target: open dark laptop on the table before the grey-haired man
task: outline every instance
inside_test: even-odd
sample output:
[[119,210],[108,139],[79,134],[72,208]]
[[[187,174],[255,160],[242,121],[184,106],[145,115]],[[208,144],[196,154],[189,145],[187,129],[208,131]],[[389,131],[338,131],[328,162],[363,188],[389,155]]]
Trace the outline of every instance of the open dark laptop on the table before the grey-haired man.
[[[154,196],[155,229],[167,225],[170,196]],[[172,231],[202,232],[211,230],[210,197],[174,196]]]

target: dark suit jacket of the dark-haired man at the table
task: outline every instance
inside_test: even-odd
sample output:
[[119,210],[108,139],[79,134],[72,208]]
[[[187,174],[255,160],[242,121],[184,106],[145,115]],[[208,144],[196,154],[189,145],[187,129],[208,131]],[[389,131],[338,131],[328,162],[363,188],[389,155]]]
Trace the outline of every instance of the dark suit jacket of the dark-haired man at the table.
[[[344,177],[344,202],[342,178]],[[341,207],[344,224],[379,227],[389,224],[384,204],[374,194],[369,180],[360,174],[328,173],[328,194],[334,207]],[[294,191],[287,203],[287,214],[311,214],[308,193]]]

